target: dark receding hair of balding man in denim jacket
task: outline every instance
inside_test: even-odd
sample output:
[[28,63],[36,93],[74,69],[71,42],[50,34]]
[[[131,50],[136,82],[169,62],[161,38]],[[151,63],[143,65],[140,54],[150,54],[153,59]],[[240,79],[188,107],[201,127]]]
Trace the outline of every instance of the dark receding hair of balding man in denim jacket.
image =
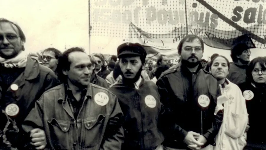
[[58,65],[57,65],[59,72],[57,72],[57,73],[58,73],[58,78],[62,82],[66,82],[66,79],[67,79],[66,75],[63,74],[63,71],[69,70],[70,64],[71,64],[71,62],[68,59],[68,56],[70,53],[76,52],[76,51],[80,51],[80,52],[85,53],[84,49],[82,49],[80,47],[72,47],[72,48],[64,51],[63,54],[59,57]]

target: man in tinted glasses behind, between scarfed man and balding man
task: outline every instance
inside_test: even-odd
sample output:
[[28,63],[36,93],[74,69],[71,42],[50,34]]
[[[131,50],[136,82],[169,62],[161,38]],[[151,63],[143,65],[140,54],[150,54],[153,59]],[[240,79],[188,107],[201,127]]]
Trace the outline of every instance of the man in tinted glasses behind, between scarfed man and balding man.
[[61,51],[55,48],[48,48],[43,51],[42,62],[43,65],[53,70],[53,72],[58,75],[58,59],[62,55]]

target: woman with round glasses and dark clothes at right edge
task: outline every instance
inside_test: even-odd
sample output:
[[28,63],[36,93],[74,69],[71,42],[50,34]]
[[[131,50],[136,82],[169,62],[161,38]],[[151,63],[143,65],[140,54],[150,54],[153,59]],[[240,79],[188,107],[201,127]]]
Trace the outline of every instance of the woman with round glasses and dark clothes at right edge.
[[266,149],[266,57],[254,58],[246,68],[246,82],[239,84],[249,113],[246,150]]

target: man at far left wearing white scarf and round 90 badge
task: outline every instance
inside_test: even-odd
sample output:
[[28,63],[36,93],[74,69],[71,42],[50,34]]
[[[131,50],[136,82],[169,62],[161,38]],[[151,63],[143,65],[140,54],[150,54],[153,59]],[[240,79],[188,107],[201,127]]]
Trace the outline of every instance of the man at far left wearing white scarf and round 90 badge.
[[[28,135],[22,132],[21,124],[41,94],[57,86],[59,81],[51,69],[40,65],[37,60],[26,54],[24,48],[26,37],[19,25],[0,19],[0,27],[0,106],[16,122],[20,130],[19,134],[9,130],[5,134],[12,147],[29,149],[24,145],[28,140],[25,137]],[[0,124],[6,123],[1,121]],[[46,144],[43,138],[44,131],[40,129],[33,131],[31,134],[31,137],[35,137],[32,141],[33,146],[37,149],[44,148]],[[1,140],[2,138],[3,136]],[[5,149],[4,146],[4,143],[0,143],[0,149]]]

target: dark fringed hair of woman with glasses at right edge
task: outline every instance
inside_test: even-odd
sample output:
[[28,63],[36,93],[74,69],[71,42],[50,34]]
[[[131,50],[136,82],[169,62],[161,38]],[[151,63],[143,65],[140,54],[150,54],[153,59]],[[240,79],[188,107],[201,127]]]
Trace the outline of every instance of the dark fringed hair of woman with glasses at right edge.
[[246,82],[247,83],[254,83],[255,81],[253,80],[252,77],[252,70],[254,69],[255,65],[259,63],[262,69],[265,68],[266,64],[266,57],[256,57],[252,59],[249,63],[248,66],[246,67]]

